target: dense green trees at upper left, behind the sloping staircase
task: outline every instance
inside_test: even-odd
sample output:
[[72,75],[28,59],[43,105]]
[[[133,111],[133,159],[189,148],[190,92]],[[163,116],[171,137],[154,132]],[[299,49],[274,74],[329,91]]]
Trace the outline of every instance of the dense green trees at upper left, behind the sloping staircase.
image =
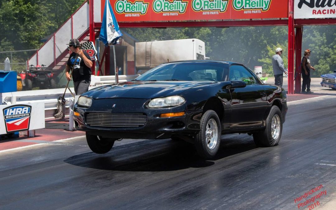
[[57,30],[83,2],[84,0],[2,1],[0,49],[39,48],[43,44],[40,39]]

